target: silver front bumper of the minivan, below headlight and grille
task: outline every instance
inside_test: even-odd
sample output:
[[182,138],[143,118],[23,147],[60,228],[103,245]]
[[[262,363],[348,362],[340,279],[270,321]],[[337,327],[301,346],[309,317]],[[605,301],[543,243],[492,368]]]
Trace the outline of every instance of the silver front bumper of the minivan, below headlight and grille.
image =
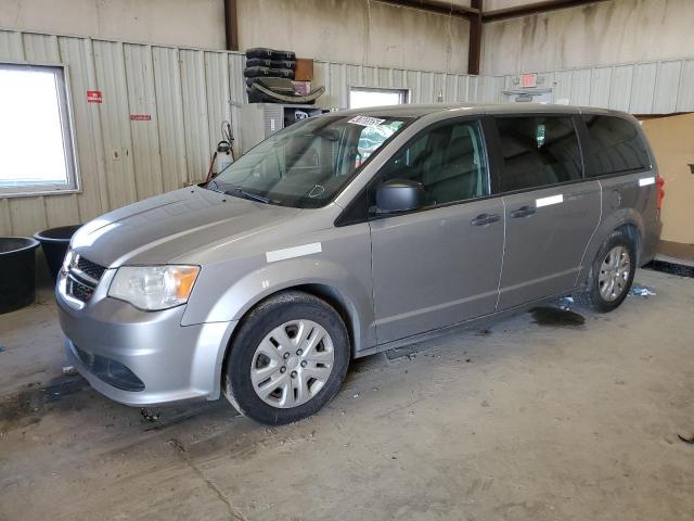
[[185,306],[145,313],[101,294],[103,282],[80,309],[56,292],[68,363],[91,386],[132,406],[217,399],[237,322],[181,326]]

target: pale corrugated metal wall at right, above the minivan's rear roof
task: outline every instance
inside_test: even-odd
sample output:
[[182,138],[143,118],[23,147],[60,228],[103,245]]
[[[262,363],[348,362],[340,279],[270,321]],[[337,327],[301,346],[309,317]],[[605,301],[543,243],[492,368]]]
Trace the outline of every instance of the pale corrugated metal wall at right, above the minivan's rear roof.
[[[503,78],[505,89],[518,89],[517,75]],[[608,67],[538,73],[541,88],[552,88],[554,101],[600,106],[631,114],[694,111],[694,60],[668,60]]]

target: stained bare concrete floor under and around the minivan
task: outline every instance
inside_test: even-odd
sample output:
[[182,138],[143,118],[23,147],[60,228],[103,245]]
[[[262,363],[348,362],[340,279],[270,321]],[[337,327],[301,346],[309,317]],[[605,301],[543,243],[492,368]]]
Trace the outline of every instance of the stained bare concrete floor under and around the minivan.
[[583,326],[523,315],[358,360],[272,429],[226,402],[147,421],[64,377],[42,293],[0,317],[0,519],[694,519],[694,280],[637,281],[657,296]]

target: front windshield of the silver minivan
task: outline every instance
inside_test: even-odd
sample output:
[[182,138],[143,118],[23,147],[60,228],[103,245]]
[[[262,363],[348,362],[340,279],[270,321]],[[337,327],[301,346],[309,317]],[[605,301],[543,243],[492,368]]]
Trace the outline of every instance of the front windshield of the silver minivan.
[[298,208],[327,204],[407,118],[323,116],[298,122],[223,169],[207,188]]

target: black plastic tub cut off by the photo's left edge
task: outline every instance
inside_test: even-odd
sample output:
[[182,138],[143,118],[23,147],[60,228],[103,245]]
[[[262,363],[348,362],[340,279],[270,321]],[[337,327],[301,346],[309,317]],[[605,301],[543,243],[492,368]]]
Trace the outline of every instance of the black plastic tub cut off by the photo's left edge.
[[29,237],[0,237],[0,315],[34,302],[37,247]]

